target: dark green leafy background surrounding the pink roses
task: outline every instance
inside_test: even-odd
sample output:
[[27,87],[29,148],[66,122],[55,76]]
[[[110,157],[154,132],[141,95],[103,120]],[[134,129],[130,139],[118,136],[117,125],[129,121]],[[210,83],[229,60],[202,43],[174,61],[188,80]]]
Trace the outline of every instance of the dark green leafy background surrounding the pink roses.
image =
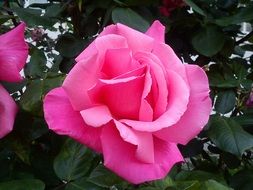
[[[253,189],[252,0],[24,3],[0,1],[0,33],[25,21],[30,46],[24,80],[3,83],[20,111],[0,140],[0,190]],[[164,180],[134,186],[104,168],[100,155],[49,131],[42,100],[105,26],[120,22],[144,32],[156,19],[178,57],[206,71],[213,112],[198,137],[179,145],[185,163]]]

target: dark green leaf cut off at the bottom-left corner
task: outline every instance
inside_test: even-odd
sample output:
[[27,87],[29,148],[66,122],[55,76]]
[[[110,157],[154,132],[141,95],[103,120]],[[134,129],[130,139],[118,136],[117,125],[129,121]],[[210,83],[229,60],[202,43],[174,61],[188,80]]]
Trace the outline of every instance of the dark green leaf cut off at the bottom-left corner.
[[44,190],[45,184],[37,179],[12,180],[0,183],[0,190]]

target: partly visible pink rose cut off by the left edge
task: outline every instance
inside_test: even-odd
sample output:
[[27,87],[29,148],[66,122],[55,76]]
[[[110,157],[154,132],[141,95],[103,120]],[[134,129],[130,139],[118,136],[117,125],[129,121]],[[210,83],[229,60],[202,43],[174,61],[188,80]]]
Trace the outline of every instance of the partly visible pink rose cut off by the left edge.
[[[0,81],[19,82],[19,74],[28,56],[24,41],[25,24],[0,36]],[[9,93],[0,84],[0,138],[8,134],[14,124],[17,106]]]

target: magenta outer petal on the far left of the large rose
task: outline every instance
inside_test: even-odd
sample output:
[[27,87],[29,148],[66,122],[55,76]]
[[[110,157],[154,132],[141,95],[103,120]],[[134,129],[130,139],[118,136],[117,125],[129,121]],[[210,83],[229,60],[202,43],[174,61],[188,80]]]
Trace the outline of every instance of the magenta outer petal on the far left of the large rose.
[[44,99],[44,116],[48,127],[59,135],[68,135],[101,152],[100,128],[87,126],[81,114],[74,111],[63,88],[51,90]]

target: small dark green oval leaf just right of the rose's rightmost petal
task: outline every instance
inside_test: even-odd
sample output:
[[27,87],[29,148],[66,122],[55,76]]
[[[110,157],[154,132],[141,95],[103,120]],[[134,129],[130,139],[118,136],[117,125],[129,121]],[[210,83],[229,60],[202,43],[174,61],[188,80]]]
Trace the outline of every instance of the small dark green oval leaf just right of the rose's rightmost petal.
[[215,110],[222,114],[228,113],[234,108],[235,103],[236,96],[233,90],[220,91],[215,102]]

